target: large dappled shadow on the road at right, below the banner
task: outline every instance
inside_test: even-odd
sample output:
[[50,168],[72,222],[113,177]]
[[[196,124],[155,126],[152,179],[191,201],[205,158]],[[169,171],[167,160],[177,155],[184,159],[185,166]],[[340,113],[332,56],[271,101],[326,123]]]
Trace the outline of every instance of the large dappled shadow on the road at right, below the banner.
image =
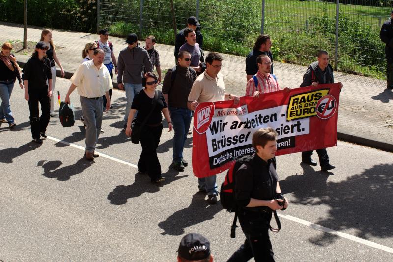
[[[314,172],[288,176],[280,181],[280,186],[282,192],[293,193],[292,203],[330,206],[328,215],[321,217],[316,224],[337,231],[354,230],[351,234],[363,239],[384,239],[393,236],[391,215],[388,215],[393,214],[390,204],[392,173],[393,164],[379,164],[341,182],[326,183],[329,174]],[[323,233],[309,241],[327,246],[338,238]]]

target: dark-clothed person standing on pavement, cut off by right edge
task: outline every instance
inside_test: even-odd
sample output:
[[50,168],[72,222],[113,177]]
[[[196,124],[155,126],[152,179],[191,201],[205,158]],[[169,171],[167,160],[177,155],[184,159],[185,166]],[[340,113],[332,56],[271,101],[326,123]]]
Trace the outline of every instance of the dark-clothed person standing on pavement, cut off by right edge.
[[379,38],[385,43],[387,89],[393,89],[393,10],[381,28]]

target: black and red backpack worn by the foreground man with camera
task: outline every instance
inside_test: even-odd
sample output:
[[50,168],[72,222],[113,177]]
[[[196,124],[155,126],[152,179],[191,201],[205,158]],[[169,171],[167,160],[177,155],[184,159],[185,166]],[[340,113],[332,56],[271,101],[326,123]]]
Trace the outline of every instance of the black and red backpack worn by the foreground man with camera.
[[[236,162],[233,163],[233,165],[229,168],[229,170],[226,172],[224,182],[221,184],[221,190],[220,190],[220,203],[223,206],[226,211],[232,213],[235,213],[235,217],[233,219],[233,223],[230,229],[230,237],[235,238],[236,237],[236,222],[237,222],[237,216],[238,216],[238,211],[240,211],[240,207],[237,206],[236,204],[236,198],[235,198],[235,183],[236,183],[236,172],[239,170],[239,168],[245,164],[249,163],[253,159],[253,155],[245,155],[245,156],[238,156],[235,158]],[[273,165],[276,168],[276,159],[273,158]],[[277,216],[277,212],[273,211],[274,218],[276,219],[276,223],[278,226],[278,229],[273,228],[272,226],[269,225],[269,229],[273,232],[279,232],[281,229],[281,223],[279,220],[279,217]]]

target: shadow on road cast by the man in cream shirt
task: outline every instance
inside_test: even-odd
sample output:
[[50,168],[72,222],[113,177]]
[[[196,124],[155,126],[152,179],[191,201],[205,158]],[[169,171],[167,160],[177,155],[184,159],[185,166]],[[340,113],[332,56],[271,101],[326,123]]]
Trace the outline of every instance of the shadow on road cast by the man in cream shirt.
[[43,176],[47,178],[57,178],[58,181],[67,181],[73,175],[81,174],[85,169],[89,168],[94,162],[87,161],[84,157],[79,159],[75,164],[59,168],[63,162],[60,160],[40,160],[37,167],[44,169]]

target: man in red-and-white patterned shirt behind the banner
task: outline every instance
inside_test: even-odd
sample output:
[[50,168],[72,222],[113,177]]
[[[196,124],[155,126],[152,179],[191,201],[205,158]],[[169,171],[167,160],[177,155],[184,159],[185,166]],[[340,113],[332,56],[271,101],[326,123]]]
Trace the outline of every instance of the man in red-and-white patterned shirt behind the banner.
[[272,60],[267,55],[256,58],[258,72],[249,79],[246,86],[246,96],[259,96],[260,94],[279,91],[276,76],[270,74]]

